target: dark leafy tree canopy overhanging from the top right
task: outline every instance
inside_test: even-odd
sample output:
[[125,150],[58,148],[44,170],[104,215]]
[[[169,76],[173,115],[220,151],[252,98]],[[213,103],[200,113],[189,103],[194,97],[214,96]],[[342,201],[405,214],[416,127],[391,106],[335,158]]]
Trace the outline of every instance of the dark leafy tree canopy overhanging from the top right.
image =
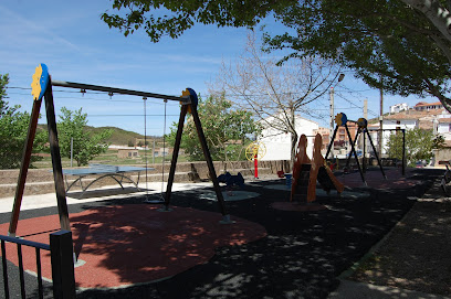
[[285,57],[338,57],[369,86],[387,93],[437,97],[451,111],[451,4],[445,0],[115,0],[129,9],[102,19],[125,35],[140,28],[150,40],[178,38],[196,22],[254,26],[272,13],[287,31],[266,35],[269,50],[290,49]]

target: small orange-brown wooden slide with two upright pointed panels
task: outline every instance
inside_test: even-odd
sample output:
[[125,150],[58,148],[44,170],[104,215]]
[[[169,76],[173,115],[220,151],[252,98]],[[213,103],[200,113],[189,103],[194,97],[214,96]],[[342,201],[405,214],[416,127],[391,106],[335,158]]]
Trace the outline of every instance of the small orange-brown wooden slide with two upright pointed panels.
[[300,197],[301,203],[311,203],[316,200],[316,182],[327,193],[337,190],[340,194],[345,186],[335,178],[326,160],[321,153],[323,138],[316,135],[312,159],[306,153],[307,137],[302,135],[297,143],[297,153],[293,165],[293,179],[290,201]]

